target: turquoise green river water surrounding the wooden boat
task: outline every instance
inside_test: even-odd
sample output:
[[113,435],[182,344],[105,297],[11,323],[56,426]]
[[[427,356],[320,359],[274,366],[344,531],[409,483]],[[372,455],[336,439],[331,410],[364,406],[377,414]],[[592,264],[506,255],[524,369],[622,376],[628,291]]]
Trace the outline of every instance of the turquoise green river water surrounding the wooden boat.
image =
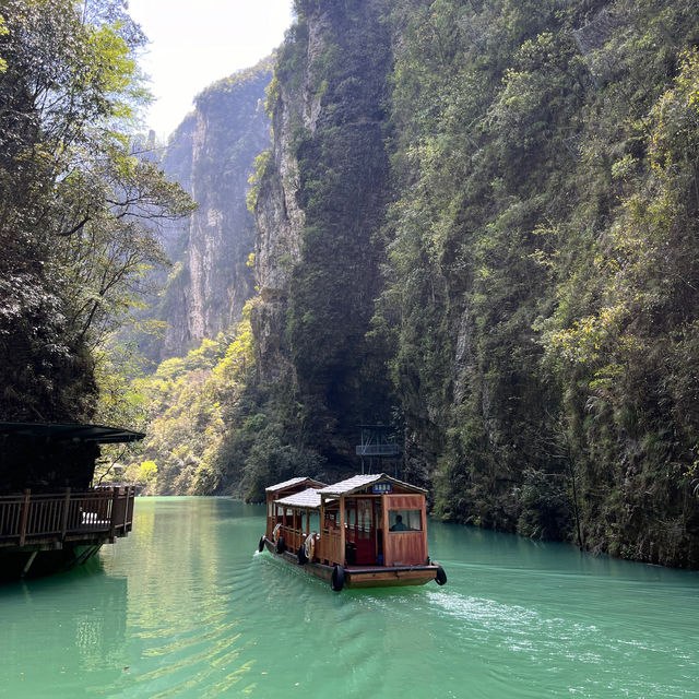
[[699,697],[699,574],[430,523],[439,588],[257,554],[263,510],[139,499],[84,569],[0,587],[7,697]]

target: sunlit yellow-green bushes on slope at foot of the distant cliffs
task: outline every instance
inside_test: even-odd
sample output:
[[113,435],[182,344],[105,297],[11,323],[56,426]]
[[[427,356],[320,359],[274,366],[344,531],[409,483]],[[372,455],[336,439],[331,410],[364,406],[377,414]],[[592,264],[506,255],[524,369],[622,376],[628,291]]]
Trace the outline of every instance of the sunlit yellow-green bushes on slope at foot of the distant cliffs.
[[272,410],[256,381],[249,308],[229,333],[133,380],[129,398],[145,412],[143,453],[107,481],[135,483],[146,494],[233,491],[259,500],[270,478],[322,466],[317,454],[288,443],[279,415],[261,407]]

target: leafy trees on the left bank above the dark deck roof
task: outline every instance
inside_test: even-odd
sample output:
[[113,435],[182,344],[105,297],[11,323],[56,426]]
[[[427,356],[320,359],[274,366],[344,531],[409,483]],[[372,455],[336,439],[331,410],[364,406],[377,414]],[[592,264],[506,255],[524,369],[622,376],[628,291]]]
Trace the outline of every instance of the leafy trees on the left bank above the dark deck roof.
[[144,42],[126,2],[8,0],[0,32],[0,415],[95,414],[95,350],[191,210],[134,157]]

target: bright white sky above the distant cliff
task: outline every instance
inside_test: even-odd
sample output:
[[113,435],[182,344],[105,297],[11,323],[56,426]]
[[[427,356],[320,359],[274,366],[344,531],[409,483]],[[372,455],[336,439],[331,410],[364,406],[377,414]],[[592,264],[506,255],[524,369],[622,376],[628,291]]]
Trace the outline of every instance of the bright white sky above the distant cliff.
[[206,85],[269,56],[292,24],[292,0],[129,0],[129,12],[151,40],[145,122],[162,139]]

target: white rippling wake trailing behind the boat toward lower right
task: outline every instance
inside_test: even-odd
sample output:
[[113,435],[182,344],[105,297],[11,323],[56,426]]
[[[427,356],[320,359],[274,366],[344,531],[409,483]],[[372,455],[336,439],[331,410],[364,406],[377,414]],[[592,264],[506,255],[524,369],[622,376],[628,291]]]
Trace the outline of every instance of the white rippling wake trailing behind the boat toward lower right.
[[[534,672],[540,689],[542,683],[550,680],[554,690],[557,677],[574,674],[580,684],[568,689],[583,697],[596,697],[602,689],[623,690],[624,696],[645,696],[651,687],[657,692],[652,696],[685,696],[674,694],[674,686],[656,686],[653,668],[660,672],[674,662],[680,673],[696,671],[690,657],[680,659],[672,639],[606,624],[594,608],[585,611],[585,618],[570,613],[559,615],[560,609],[545,600],[538,607],[531,607],[448,590],[428,591],[426,597],[434,614],[448,618],[443,626],[453,635],[454,645],[467,645],[476,657],[483,653],[479,662],[488,661],[481,649],[509,657],[512,666]],[[623,668],[633,666],[639,654],[645,655],[647,674],[625,675]],[[496,668],[491,675],[494,682],[503,686],[509,682],[506,675],[499,676]]]

